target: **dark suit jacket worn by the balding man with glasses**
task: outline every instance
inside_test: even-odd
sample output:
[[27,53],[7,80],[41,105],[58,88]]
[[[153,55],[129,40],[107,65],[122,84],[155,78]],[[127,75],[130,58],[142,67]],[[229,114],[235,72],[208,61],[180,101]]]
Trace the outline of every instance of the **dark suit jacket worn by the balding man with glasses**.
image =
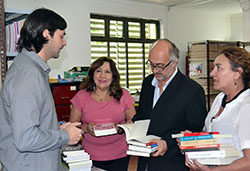
[[146,77],[142,83],[138,112],[133,120],[151,119],[148,134],[162,137],[168,150],[164,156],[140,157],[138,170],[149,171],[185,171],[185,156],[180,153],[176,139],[171,134],[180,131],[201,131],[207,115],[206,99],[203,88],[180,71],[167,86],[153,106],[154,75]]

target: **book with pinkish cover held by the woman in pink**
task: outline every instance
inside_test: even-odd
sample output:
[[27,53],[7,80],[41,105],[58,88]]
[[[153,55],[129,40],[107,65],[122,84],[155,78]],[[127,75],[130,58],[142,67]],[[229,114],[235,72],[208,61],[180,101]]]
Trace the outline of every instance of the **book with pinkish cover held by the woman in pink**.
[[94,126],[94,133],[95,136],[107,136],[107,135],[113,135],[117,134],[117,130],[115,128],[115,125],[113,123],[108,124],[96,124]]

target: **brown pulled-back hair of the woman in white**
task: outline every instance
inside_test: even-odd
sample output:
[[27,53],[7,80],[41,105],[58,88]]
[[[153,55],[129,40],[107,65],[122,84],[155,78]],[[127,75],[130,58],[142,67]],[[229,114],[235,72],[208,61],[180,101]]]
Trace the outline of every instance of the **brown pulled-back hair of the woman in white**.
[[242,68],[242,81],[245,88],[250,87],[250,54],[244,48],[229,47],[224,49],[220,54],[223,54],[229,59],[233,71],[237,68]]

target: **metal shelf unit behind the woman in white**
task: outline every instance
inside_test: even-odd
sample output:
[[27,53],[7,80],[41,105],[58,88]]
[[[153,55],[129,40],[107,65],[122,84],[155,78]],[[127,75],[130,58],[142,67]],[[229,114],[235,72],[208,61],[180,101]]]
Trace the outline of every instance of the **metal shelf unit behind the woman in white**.
[[214,68],[214,59],[222,50],[240,45],[243,46],[244,42],[216,40],[188,42],[187,75],[203,87],[208,110],[214,97],[219,93],[218,90],[214,90],[213,80],[210,77],[210,72]]

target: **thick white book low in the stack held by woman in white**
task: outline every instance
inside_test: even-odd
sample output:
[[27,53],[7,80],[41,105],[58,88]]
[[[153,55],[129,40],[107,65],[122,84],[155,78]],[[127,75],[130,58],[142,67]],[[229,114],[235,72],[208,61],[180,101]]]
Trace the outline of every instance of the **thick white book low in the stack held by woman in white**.
[[235,148],[220,148],[219,150],[210,151],[192,151],[185,153],[189,159],[198,158],[225,158],[240,156],[239,150]]

